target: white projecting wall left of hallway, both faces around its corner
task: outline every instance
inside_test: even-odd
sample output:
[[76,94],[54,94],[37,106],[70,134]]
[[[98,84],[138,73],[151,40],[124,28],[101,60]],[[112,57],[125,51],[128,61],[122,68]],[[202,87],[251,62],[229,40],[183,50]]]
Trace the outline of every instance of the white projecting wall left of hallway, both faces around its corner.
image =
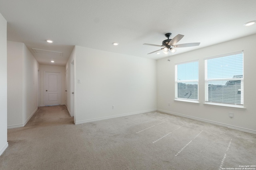
[[23,127],[37,110],[39,64],[24,43],[7,41],[8,128]]

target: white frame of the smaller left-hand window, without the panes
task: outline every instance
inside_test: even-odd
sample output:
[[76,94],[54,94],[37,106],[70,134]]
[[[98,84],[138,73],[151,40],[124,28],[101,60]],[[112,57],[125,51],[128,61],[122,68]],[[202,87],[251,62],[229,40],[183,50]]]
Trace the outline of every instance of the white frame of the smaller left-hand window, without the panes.
[[[198,69],[199,69],[199,61],[198,60],[187,61],[187,62],[175,64],[175,99],[174,99],[175,101],[199,103],[199,89],[198,89],[199,75],[198,75],[198,79],[196,79],[196,80],[193,80],[193,79],[192,80],[178,80],[178,65],[194,63],[194,62],[198,63]],[[198,70],[198,74],[199,74],[199,70]],[[178,98],[178,83],[187,83],[187,82],[197,82],[197,99]]]

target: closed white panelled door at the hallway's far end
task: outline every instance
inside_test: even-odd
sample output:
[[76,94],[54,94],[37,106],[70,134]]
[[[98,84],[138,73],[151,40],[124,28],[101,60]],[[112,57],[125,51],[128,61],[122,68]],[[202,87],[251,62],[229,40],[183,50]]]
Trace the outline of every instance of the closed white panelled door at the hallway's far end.
[[61,73],[44,72],[45,106],[60,105],[61,102]]

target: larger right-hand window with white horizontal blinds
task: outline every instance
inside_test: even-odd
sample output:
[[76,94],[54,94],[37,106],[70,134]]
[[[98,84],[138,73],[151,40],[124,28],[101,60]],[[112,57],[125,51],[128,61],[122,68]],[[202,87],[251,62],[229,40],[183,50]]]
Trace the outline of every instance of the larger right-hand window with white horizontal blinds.
[[244,104],[243,51],[211,57],[205,63],[205,101]]

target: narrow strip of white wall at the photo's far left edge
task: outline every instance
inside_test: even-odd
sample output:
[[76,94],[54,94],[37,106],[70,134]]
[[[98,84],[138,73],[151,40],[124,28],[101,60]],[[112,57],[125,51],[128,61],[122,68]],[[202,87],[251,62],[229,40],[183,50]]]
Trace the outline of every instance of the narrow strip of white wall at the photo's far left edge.
[[0,155],[7,142],[7,21],[0,14]]

